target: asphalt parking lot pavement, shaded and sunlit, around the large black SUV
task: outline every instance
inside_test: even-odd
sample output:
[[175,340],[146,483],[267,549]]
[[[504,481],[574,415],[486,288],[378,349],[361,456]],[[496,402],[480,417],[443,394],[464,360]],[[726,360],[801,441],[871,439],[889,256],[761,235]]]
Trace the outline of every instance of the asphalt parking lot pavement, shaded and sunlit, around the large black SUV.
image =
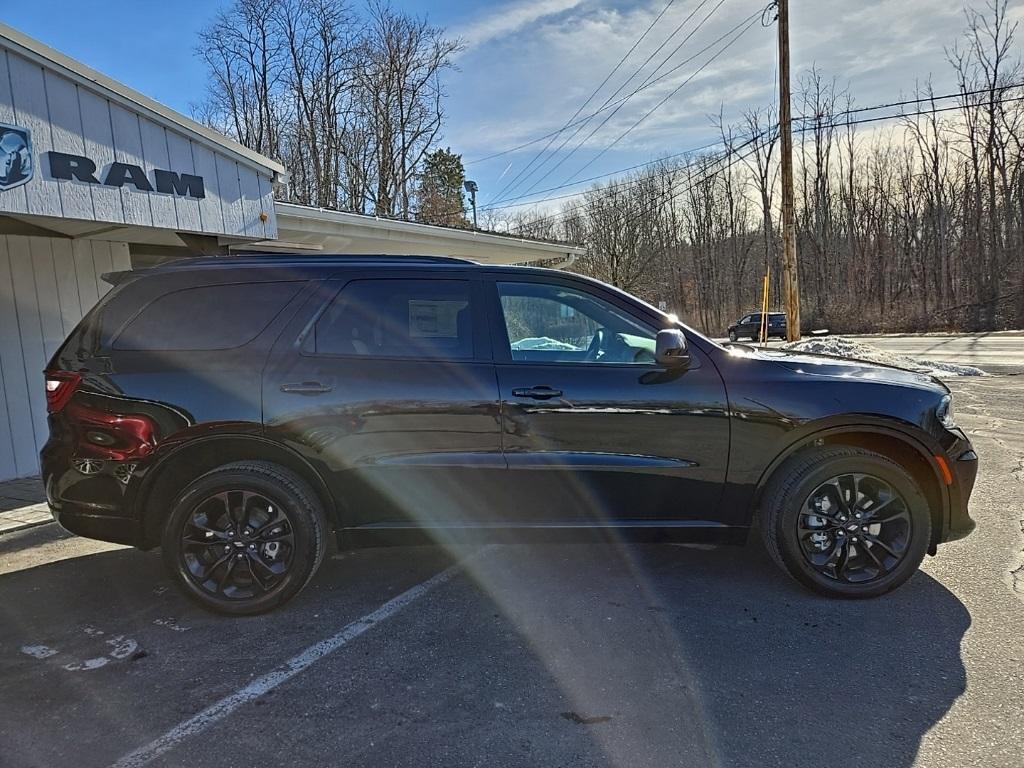
[[756,547],[406,548],[228,620],[157,553],[0,537],[0,765],[1019,768],[1024,378],[951,386],[979,529],[867,602]]

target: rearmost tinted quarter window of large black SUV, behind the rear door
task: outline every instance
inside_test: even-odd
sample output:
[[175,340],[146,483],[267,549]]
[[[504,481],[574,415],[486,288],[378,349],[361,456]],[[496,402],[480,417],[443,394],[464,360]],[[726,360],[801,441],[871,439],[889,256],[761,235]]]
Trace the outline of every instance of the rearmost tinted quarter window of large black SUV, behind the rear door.
[[114,340],[123,350],[233,349],[259,336],[300,283],[199,286],[147,304]]

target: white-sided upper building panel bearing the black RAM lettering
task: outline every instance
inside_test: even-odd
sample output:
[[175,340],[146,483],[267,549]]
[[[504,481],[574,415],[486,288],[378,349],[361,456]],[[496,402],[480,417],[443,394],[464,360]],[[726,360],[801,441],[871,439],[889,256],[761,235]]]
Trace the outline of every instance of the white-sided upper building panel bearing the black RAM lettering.
[[0,214],[272,240],[272,174],[0,41]]

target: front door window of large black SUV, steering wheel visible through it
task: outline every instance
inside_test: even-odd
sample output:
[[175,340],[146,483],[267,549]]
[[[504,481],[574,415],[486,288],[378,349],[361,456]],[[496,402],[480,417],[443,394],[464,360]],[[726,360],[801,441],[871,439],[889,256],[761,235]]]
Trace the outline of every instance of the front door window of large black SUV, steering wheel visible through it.
[[499,283],[498,294],[513,360],[654,361],[656,332],[603,299],[540,283]]

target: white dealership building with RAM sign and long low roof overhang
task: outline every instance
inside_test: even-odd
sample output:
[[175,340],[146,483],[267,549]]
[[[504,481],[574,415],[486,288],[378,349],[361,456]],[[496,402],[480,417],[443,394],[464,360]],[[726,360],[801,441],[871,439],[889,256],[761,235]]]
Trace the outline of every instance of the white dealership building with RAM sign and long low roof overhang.
[[287,169],[0,25],[0,480],[34,475],[42,371],[104,272],[249,252],[565,263],[579,249],[280,203]]

